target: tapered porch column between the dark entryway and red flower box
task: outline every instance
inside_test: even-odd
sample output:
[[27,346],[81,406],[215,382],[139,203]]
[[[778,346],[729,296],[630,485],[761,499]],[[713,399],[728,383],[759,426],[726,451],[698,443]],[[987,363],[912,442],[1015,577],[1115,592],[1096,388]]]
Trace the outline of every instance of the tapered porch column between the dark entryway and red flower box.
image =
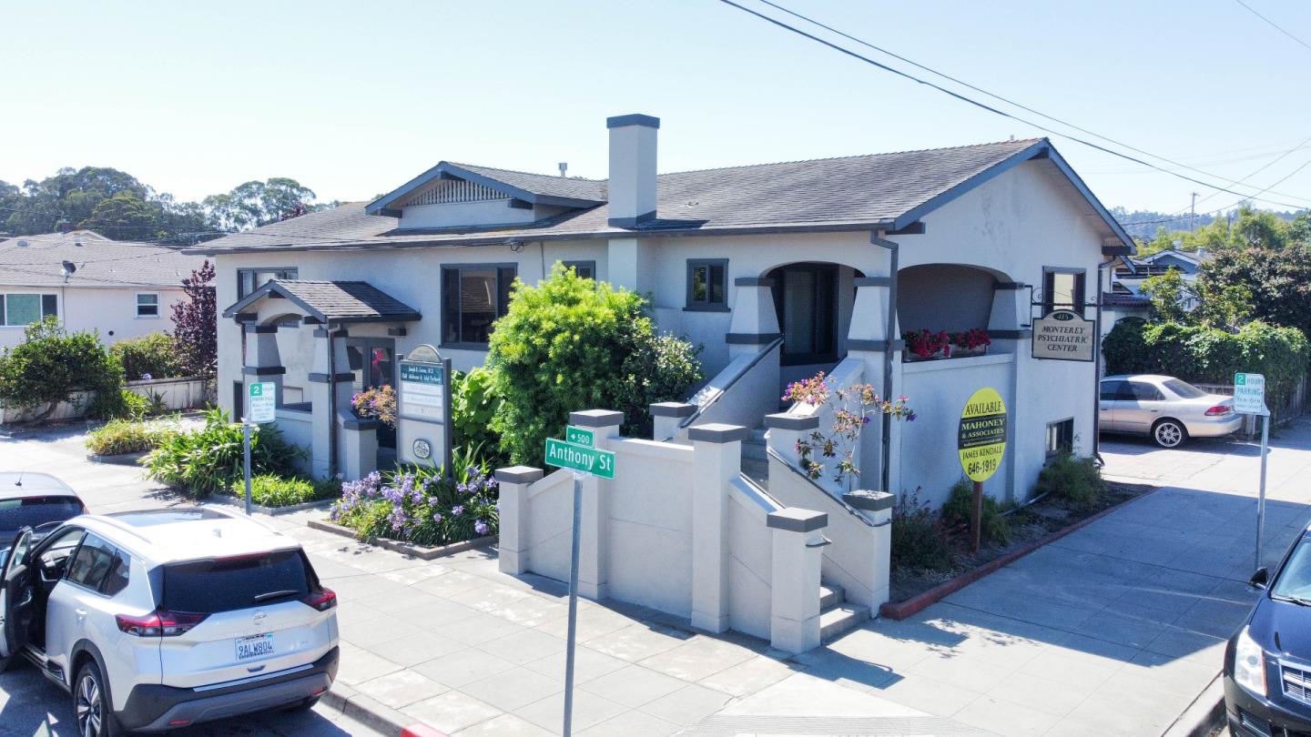
[[[897,308],[893,309],[893,334],[888,334],[889,295],[891,294],[891,278],[889,277],[863,277],[855,279],[856,303],[851,311],[851,328],[847,332],[847,358],[860,358],[865,362],[864,382],[874,387],[884,395],[884,372],[886,371],[886,357],[891,357],[891,391],[885,399],[895,399],[902,392],[902,350],[906,344],[899,338],[901,328],[897,327]],[[888,489],[882,489],[882,422],[871,422],[868,430],[860,437],[860,467],[863,484],[876,490],[897,493],[901,488],[899,463],[897,456],[901,450],[901,422],[889,422],[890,459],[891,468],[888,477]]]

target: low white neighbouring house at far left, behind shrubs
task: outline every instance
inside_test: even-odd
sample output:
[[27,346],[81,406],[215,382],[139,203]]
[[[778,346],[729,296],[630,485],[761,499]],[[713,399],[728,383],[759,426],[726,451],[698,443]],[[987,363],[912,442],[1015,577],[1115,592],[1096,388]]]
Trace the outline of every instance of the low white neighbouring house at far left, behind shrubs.
[[203,261],[92,231],[9,236],[0,240],[0,348],[51,315],[106,345],[164,330],[182,279]]

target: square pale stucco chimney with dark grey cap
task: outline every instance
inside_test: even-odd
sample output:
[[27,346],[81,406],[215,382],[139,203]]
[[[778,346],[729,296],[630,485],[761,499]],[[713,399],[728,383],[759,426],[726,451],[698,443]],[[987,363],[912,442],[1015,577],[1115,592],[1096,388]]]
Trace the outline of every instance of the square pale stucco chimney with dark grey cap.
[[659,118],[617,115],[610,129],[610,226],[635,228],[656,219],[656,135]]

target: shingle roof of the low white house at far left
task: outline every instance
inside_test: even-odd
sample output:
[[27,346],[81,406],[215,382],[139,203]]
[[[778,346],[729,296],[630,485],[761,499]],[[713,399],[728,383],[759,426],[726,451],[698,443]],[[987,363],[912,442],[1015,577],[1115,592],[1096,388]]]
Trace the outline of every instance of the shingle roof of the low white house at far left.
[[[76,270],[64,281],[63,262]],[[144,243],[109,240],[92,231],[0,240],[0,285],[178,287],[205,260]]]

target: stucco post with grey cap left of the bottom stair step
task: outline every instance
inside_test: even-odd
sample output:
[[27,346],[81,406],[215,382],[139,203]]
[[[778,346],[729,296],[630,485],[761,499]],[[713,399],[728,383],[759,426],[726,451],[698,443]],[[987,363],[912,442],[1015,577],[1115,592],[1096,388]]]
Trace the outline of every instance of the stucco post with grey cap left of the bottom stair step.
[[770,644],[788,653],[819,647],[819,564],[829,515],[789,506],[770,513],[773,553]]

